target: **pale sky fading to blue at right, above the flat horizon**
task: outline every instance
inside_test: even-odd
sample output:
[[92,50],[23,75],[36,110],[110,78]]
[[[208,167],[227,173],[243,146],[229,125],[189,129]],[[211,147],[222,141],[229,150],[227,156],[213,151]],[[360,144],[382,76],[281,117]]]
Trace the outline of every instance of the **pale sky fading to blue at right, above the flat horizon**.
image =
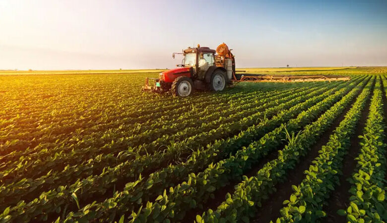
[[0,69],[171,68],[225,42],[237,67],[387,65],[387,1],[1,0]]

